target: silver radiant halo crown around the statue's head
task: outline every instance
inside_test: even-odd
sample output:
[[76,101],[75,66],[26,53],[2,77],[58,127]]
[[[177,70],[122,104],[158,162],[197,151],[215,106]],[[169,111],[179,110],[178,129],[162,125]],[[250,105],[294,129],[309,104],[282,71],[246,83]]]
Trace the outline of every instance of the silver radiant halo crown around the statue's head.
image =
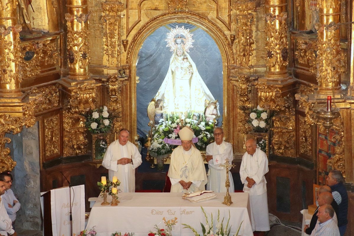
[[167,42],[166,47],[170,47],[170,51],[173,52],[178,46],[181,47],[181,44],[176,44],[176,36],[183,35],[185,38],[181,38],[184,41],[183,48],[186,52],[189,52],[189,48],[193,47],[192,43],[194,40],[192,39],[193,34],[189,33],[189,29],[184,29],[184,26],[176,28],[171,28],[171,31],[167,33],[167,38],[165,41]]

